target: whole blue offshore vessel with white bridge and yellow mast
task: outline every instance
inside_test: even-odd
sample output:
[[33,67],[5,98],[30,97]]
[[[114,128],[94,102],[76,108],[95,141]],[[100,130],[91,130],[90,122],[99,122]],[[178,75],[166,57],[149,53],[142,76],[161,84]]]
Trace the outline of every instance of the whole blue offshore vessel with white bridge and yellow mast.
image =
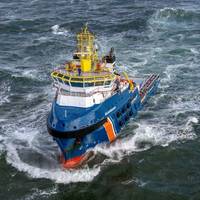
[[113,142],[155,94],[159,75],[137,82],[117,69],[113,48],[99,58],[95,36],[86,25],[77,34],[73,59],[51,73],[56,95],[47,128],[60,147],[64,168],[80,166],[94,146]]

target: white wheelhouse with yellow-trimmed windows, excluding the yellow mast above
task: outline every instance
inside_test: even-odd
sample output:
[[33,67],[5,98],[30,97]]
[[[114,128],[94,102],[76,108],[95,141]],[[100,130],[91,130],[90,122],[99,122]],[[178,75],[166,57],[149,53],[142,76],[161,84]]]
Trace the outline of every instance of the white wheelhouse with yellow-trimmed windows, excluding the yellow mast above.
[[57,87],[56,102],[60,106],[91,107],[109,98],[115,89],[117,75],[109,71],[76,72],[58,69],[52,72]]

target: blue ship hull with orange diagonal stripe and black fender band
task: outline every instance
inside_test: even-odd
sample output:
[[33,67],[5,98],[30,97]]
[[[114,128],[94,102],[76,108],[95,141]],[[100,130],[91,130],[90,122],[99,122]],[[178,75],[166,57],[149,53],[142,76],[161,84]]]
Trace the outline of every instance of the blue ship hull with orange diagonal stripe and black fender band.
[[87,150],[97,144],[114,141],[129,119],[156,93],[158,85],[159,79],[142,97],[137,87],[133,91],[128,88],[116,92],[101,105],[91,108],[64,107],[53,102],[47,127],[61,149],[64,167],[73,167],[77,163],[68,165],[68,161],[80,162]]

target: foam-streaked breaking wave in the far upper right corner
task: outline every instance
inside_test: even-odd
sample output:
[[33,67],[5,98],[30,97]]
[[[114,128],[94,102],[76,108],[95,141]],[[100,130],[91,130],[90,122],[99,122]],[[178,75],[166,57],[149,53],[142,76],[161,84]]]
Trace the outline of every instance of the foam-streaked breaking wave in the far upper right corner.
[[199,23],[200,13],[198,11],[168,7],[155,11],[147,22],[151,39],[159,35],[165,40],[172,41],[174,39],[184,41],[184,36],[188,37],[185,31],[198,30]]

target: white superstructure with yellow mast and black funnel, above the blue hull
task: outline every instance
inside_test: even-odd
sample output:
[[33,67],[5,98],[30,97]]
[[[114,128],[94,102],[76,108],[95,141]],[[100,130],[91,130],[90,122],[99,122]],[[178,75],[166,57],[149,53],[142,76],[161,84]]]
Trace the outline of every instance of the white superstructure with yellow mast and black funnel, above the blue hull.
[[56,103],[60,106],[91,107],[113,95],[116,89],[123,90],[128,84],[120,82],[114,73],[115,56],[99,59],[95,36],[87,25],[77,34],[77,47],[73,60],[54,70],[51,77],[57,88]]

